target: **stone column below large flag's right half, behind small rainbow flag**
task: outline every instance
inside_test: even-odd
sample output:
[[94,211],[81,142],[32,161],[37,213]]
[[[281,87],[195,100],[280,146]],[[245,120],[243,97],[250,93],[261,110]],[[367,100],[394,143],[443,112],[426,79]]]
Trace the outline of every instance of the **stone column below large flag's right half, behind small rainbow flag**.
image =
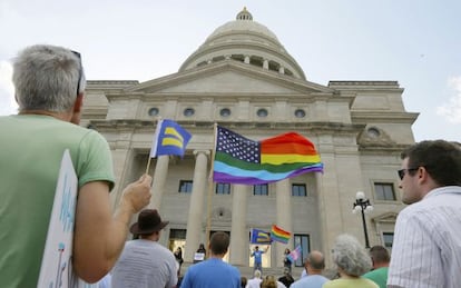
[[[290,185],[290,179],[285,179],[275,183],[275,197],[276,197],[276,211],[277,211],[277,222],[276,225],[292,234],[292,238],[288,244],[276,242],[275,248],[275,267],[283,267],[283,252],[286,247],[293,246],[293,229],[292,229],[292,189]],[[272,265],[274,267],[274,265]]]

